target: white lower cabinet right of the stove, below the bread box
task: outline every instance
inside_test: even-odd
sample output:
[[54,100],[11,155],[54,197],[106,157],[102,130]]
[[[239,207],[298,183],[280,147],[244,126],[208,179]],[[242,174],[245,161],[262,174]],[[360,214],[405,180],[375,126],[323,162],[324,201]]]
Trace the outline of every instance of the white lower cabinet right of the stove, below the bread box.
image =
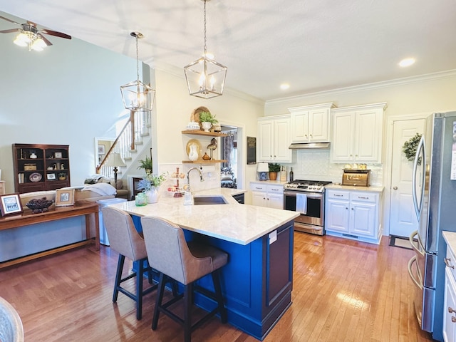
[[380,194],[326,190],[326,234],[380,243]]

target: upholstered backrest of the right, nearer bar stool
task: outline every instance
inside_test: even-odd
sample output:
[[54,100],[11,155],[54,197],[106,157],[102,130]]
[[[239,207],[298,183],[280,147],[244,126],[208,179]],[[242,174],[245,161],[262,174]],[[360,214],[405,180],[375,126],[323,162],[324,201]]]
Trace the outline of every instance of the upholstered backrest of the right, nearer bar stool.
[[199,279],[202,269],[210,269],[210,257],[196,258],[185,241],[182,228],[158,217],[141,217],[150,266],[182,284]]

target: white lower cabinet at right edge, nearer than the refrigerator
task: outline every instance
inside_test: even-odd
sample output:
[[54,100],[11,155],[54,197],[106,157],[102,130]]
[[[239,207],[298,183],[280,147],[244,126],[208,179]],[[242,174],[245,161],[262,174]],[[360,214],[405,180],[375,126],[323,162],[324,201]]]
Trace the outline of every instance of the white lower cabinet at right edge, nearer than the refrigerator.
[[445,259],[445,297],[443,301],[443,341],[456,341],[456,279],[452,273],[456,264],[455,256],[447,247]]

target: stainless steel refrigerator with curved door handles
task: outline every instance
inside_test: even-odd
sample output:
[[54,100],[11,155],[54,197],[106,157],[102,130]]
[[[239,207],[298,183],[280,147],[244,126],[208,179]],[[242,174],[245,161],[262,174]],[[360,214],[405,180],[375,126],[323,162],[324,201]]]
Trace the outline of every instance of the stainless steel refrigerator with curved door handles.
[[408,272],[415,283],[415,312],[421,328],[442,341],[445,241],[456,232],[456,112],[427,120],[413,167],[413,202],[419,229],[410,235],[415,255]]

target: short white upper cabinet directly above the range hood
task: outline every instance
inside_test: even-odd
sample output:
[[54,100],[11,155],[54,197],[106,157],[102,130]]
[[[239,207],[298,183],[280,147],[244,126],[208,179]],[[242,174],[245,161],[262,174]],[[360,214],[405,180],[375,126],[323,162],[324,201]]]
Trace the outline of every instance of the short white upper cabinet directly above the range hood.
[[333,103],[288,108],[291,113],[291,142],[330,141],[330,111]]

